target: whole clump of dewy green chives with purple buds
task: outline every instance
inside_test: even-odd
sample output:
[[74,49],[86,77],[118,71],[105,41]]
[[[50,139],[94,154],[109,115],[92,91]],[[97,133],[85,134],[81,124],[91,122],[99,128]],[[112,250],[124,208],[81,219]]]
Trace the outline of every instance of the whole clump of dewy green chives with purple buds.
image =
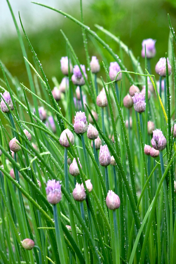
[[[82,1],[80,21],[33,2],[82,30],[86,67],[61,31],[64,81],[53,77],[49,83],[19,14],[35,59],[28,61],[6,1],[29,87],[0,62],[0,263],[175,263],[176,100],[171,104],[170,97],[176,98],[176,36],[169,16],[171,57],[158,58],[157,86],[158,76],[151,73],[155,40],[143,40],[142,69],[119,38],[96,25],[116,41],[121,57],[83,23]],[[106,49],[111,62],[89,60],[96,48],[89,54],[87,36]],[[133,68],[126,69],[124,53]]]

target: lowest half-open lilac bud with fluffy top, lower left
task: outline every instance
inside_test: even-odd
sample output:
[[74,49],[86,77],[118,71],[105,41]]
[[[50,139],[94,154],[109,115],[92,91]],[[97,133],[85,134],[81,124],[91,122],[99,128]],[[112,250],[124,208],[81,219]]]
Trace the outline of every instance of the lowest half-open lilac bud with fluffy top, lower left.
[[46,186],[46,195],[50,204],[59,203],[62,199],[60,182],[56,180],[48,180]]

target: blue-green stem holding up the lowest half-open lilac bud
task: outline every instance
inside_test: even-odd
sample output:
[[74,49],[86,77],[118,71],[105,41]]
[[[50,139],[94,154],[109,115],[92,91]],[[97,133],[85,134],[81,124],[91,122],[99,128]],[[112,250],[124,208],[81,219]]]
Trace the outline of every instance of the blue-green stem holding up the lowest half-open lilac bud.
[[55,232],[56,232],[56,242],[57,242],[60,263],[68,263],[67,255],[64,254],[64,248],[62,245],[62,239],[61,239],[62,230],[59,229],[60,218],[57,216],[56,204],[53,204],[53,213],[54,213],[54,224],[55,224]]

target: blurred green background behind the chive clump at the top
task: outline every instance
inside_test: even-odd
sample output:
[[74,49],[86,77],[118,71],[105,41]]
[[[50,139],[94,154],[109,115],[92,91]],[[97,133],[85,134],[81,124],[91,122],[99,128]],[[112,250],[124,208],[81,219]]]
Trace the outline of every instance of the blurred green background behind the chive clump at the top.
[[[4,4],[1,6],[1,15],[3,15],[4,5],[7,5],[6,1],[3,1]],[[13,1],[16,2],[17,0]],[[57,0],[52,1],[52,6],[60,8],[59,2],[60,1]],[[53,3],[55,3],[55,5]],[[50,5],[50,1],[45,1],[45,4]],[[45,17],[42,27],[37,27],[37,25],[35,25],[35,21],[30,19],[30,14],[29,17],[27,17],[23,9],[20,11],[22,21],[25,25],[25,30],[40,62],[42,63],[43,69],[52,88],[53,83],[51,78],[56,76],[60,82],[63,77],[62,72],[60,71],[60,58],[62,56],[66,56],[65,40],[60,33],[60,29],[63,30],[70,40],[80,63],[86,63],[81,28],[54,11],[50,11],[49,9],[45,9],[41,6],[36,6],[32,3],[30,3],[30,5],[30,12],[33,13],[35,11],[36,16],[38,16],[38,12],[40,14],[45,12],[45,16],[47,13],[49,17]],[[79,0],[67,2],[65,5],[62,3],[62,10],[70,13],[80,20]],[[170,14],[172,26],[176,28],[175,0],[83,1],[84,23],[91,29],[97,31],[98,35],[109,44],[116,54],[119,55],[118,45],[104,33],[98,31],[94,27],[94,24],[99,24],[114,35],[119,36],[120,39],[133,50],[135,57],[139,57],[139,61],[143,68],[144,59],[141,57],[142,40],[146,38],[153,38],[157,40],[157,53],[151,62],[152,72],[154,72],[155,64],[158,62],[159,58],[165,56],[165,52],[168,50],[169,24],[167,20],[167,13]],[[18,12],[16,12],[15,15],[18,18]],[[13,23],[10,16],[11,15],[9,13],[8,23]],[[8,23],[3,25],[5,30]],[[28,53],[28,60],[34,64],[28,43],[25,38],[23,39]],[[111,62],[113,59],[110,55],[107,54],[103,47],[99,44],[98,46],[101,48],[101,52],[106,56],[108,62]],[[94,47],[94,44],[89,36],[88,48],[90,56],[96,55],[101,62],[102,57],[99,55],[97,48]],[[8,34],[8,27],[6,34],[1,36],[0,59],[13,76],[17,76],[20,82],[23,82],[23,84],[28,86],[26,68],[17,35],[16,33]],[[124,63],[128,70],[132,70],[131,63],[127,56],[124,57]],[[102,67],[101,75],[104,76]],[[1,72],[0,77],[2,77]]]

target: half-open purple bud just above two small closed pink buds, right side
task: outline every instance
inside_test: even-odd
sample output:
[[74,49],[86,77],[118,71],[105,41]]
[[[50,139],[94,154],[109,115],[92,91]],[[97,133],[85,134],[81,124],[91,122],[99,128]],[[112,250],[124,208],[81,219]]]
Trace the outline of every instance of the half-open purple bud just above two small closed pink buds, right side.
[[153,138],[151,140],[152,146],[156,150],[163,150],[166,147],[167,141],[163,132],[160,129],[155,129],[153,131]]

